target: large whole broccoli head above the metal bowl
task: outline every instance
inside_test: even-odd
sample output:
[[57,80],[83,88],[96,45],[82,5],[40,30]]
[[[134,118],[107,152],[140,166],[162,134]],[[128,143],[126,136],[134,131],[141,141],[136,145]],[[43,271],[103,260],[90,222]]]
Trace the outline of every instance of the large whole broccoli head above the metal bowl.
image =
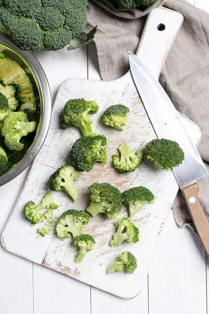
[[21,47],[58,50],[85,29],[87,0],[6,0],[1,22]]

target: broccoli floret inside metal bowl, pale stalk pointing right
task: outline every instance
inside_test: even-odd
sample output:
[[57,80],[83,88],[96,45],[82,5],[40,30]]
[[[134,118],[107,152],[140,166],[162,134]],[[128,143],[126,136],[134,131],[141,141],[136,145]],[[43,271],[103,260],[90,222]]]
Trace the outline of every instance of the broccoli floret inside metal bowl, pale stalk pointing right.
[[25,112],[11,112],[3,121],[2,135],[5,136],[5,144],[8,149],[21,150],[24,143],[21,142],[23,136],[28,135],[36,130],[37,123],[28,121]]

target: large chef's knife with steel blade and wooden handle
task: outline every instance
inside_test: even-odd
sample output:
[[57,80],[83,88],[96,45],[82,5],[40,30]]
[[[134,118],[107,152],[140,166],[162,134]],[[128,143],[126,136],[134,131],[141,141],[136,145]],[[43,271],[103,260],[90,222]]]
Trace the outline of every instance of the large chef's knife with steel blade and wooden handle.
[[208,176],[200,155],[181,118],[160,83],[134,54],[129,52],[131,73],[158,138],[176,141],[184,151],[182,165],[173,169],[196,231],[209,255],[209,222],[198,200],[197,181]]

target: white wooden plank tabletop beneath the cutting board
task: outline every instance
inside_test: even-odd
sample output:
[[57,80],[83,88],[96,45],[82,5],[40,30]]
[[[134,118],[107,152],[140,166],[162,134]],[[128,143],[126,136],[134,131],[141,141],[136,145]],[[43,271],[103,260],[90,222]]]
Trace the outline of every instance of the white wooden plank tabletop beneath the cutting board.
[[[208,0],[189,0],[209,12]],[[100,79],[93,44],[36,53],[54,98],[67,78]],[[28,170],[0,187],[0,233]],[[123,300],[6,252],[0,246],[1,314],[206,314],[209,264],[200,241],[176,226],[170,211],[142,292]]]

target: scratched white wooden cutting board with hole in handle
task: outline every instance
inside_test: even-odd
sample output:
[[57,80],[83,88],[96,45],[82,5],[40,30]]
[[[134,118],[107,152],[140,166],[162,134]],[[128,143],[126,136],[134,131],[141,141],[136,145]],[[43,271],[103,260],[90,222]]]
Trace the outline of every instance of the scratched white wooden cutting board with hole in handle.
[[[158,77],[163,61],[174,41],[182,23],[182,16],[173,11],[158,8],[152,11],[145,27],[138,55]],[[157,30],[162,23],[166,26],[163,32]],[[114,69],[110,69],[114,71]],[[75,183],[79,190],[78,200],[73,203],[64,193],[53,192],[55,201],[60,205],[55,211],[58,218],[68,209],[85,210],[89,205],[87,187],[94,182],[109,182],[123,192],[134,186],[143,185],[156,196],[152,205],[147,205],[135,215],[132,221],[140,230],[140,241],[137,244],[121,244],[110,247],[115,228],[114,221],[104,215],[92,217],[88,225],[83,227],[84,233],[91,234],[96,245],[92,252],[88,252],[83,263],[74,262],[77,248],[72,245],[72,239],[61,241],[55,234],[55,229],[44,238],[37,233],[39,226],[31,227],[23,214],[27,201],[34,200],[37,204],[48,190],[47,179],[54,171],[69,161],[72,144],[80,133],[77,128],[62,129],[59,127],[60,116],[64,104],[71,98],[84,97],[99,103],[99,112],[93,115],[93,132],[105,134],[108,139],[108,164],[97,163],[89,173],[81,173],[79,181]],[[104,126],[101,117],[104,110],[112,104],[124,104],[130,108],[130,115],[124,131],[118,131]],[[198,142],[200,131],[198,127],[182,117],[186,129],[193,141]],[[118,174],[112,167],[112,154],[122,141],[126,141],[133,151],[143,149],[146,142],[156,138],[155,132],[141,103],[138,92],[128,72],[116,81],[93,81],[69,79],[65,81],[57,94],[50,130],[45,143],[31,167],[28,178],[20,197],[13,209],[11,217],[3,231],[1,241],[3,247],[21,257],[42,264],[77,280],[98,287],[123,298],[136,296],[142,289],[152,254],[162,231],[168,212],[172,206],[178,186],[172,172],[153,170],[151,164],[145,160],[143,165],[133,173]],[[127,210],[123,207],[118,218],[127,217]],[[44,223],[42,224],[44,225]],[[116,272],[106,274],[110,262],[124,250],[131,251],[137,258],[138,268],[133,275]]]

